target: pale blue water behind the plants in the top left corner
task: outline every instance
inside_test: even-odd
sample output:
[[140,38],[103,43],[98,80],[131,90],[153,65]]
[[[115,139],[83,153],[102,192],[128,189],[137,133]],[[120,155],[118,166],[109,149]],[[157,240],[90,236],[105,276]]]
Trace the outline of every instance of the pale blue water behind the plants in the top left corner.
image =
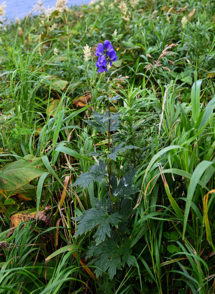
[[[43,6],[45,8],[53,7],[55,5],[57,0],[41,0],[43,3]],[[69,0],[67,6],[71,7],[71,5],[81,5],[86,4],[90,0]],[[6,15],[5,17],[7,19],[14,20],[16,17],[22,18],[24,16],[27,16],[31,10],[34,8],[34,5],[38,2],[38,0],[1,0],[0,4],[5,2],[6,4]]]

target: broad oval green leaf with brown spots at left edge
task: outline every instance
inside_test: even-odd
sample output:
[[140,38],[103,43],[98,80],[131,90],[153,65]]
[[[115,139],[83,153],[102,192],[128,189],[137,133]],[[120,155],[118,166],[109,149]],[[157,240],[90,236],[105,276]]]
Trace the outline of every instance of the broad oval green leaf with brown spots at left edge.
[[40,177],[46,168],[40,157],[29,154],[18,161],[8,163],[2,168],[1,173],[10,178],[13,183],[0,177],[0,190],[16,190],[34,178]]

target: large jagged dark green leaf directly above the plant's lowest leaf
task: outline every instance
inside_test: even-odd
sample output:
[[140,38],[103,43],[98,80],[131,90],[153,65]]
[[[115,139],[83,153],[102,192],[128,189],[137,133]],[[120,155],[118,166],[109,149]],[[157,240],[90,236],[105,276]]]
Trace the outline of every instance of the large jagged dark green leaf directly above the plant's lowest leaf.
[[110,224],[118,227],[121,215],[119,213],[108,214],[108,206],[111,204],[111,200],[106,201],[103,199],[103,203],[95,198],[95,208],[90,208],[84,211],[80,217],[73,218],[77,221],[76,233],[74,236],[87,233],[92,230],[96,225],[99,225],[94,237],[96,237],[96,245],[103,242],[106,234],[110,237]]

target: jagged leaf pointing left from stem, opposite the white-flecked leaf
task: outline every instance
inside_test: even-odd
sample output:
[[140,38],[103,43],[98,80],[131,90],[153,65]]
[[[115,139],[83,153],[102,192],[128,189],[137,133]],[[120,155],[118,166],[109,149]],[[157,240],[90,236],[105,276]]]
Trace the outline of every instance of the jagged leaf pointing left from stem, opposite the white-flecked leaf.
[[106,163],[99,159],[99,165],[95,164],[91,166],[88,172],[78,176],[77,180],[72,184],[72,187],[80,186],[86,188],[94,181],[101,183],[101,180],[108,175],[108,173],[105,172],[105,168]]

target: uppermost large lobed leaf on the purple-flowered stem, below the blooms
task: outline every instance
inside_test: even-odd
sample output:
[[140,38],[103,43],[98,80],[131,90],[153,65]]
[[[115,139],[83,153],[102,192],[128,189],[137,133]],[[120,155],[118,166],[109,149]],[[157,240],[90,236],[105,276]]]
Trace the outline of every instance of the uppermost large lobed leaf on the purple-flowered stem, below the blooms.
[[107,133],[109,129],[109,118],[110,119],[110,131],[116,131],[119,128],[119,113],[111,113],[109,117],[109,113],[106,110],[104,113],[100,113],[97,111],[93,111],[92,118],[94,121],[86,121],[89,125],[93,126],[96,130],[101,133]]

